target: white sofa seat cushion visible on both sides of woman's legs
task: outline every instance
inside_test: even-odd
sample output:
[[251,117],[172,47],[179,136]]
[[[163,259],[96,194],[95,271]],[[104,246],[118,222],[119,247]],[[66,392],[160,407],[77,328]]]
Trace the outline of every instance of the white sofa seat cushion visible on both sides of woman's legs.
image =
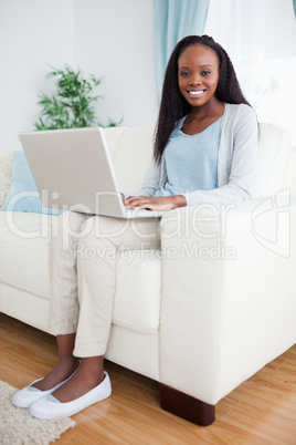
[[[0,213],[0,281],[47,300],[51,218],[55,217]],[[141,333],[157,331],[161,292],[159,252],[123,252],[118,255],[116,269],[114,324]]]

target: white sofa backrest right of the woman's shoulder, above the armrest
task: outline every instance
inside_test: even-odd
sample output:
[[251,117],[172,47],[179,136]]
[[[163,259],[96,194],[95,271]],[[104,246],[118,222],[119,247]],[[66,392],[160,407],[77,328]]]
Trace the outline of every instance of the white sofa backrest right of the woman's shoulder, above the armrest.
[[272,195],[285,186],[289,158],[289,133],[279,126],[261,123],[254,197]]

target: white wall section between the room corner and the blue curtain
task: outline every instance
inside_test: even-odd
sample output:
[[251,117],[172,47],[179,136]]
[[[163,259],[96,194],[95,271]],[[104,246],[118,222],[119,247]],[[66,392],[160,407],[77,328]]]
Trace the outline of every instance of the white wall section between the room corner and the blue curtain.
[[154,0],[75,0],[75,61],[104,76],[99,120],[155,125]]

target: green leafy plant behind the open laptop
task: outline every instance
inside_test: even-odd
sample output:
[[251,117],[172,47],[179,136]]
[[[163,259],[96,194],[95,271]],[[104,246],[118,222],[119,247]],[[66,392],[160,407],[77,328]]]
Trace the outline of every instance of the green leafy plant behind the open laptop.
[[[91,74],[84,77],[81,70],[73,70],[65,65],[62,69],[53,68],[49,77],[56,77],[56,93],[49,96],[41,93],[39,105],[42,105],[36,130],[73,128],[101,125],[97,121],[94,103],[99,95],[94,90],[102,83],[101,77]],[[121,123],[109,118],[105,126],[117,126]]]

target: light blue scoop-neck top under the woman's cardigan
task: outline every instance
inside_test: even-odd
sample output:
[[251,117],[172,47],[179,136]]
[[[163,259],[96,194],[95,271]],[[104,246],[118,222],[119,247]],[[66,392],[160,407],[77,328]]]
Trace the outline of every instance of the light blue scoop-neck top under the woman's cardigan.
[[181,195],[218,187],[218,151],[222,117],[203,132],[182,132],[184,116],[166,146],[163,156],[168,179],[155,196]]

